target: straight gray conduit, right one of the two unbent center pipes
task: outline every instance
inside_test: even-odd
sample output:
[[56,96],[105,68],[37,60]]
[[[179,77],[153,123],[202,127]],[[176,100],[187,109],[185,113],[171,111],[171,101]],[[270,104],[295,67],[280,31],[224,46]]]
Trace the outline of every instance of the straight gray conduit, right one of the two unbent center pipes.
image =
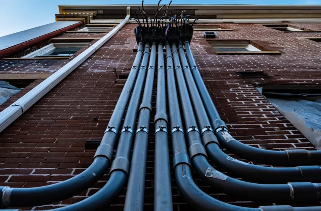
[[[166,114],[165,65],[163,45],[158,44],[157,95],[155,122],[154,210],[172,211],[172,190]],[[169,68],[169,66],[167,66]]]

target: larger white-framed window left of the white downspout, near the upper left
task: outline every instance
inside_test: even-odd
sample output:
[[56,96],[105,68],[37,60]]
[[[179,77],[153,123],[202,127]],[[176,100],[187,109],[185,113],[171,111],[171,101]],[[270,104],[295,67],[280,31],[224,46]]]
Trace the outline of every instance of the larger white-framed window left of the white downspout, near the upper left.
[[87,42],[51,43],[30,54],[27,54],[26,56],[23,56],[22,58],[70,57],[87,44]]

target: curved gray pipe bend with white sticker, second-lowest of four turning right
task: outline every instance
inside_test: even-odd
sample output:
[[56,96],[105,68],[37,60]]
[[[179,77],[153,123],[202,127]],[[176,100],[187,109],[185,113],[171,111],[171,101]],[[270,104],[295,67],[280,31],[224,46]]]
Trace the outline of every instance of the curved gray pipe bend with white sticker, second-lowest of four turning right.
[[[201,178],[224,193],[258,202],[317,202],[320,186],[311,182],[288,184],[259,184],[231,178],[215,170],[203,155],[191,159],[192,166]],[[211,173],[212,172],[212,173]]]

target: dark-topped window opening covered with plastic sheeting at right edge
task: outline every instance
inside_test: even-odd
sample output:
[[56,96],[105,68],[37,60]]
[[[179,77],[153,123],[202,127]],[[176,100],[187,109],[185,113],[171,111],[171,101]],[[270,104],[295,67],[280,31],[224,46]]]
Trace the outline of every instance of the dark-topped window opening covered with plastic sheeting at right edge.
[[321,86],[256,88],[318,150],[321,149]]

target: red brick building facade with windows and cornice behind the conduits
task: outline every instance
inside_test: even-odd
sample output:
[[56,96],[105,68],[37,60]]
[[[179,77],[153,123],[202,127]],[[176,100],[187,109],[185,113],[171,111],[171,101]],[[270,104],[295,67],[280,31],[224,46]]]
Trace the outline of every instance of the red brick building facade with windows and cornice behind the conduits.
[[[96,150],[86,149],[85,143],[102,139],[138,49],[134,34],[137,23],[128,20],[119,27],[125,23],[126,14],[136,18],[135,12],[139,13],[138,5],[128,6],[130,8],[61,5],[53,25],[0,38],[0,80],[23,88],[2,103],[0,109],[4,110],[74,59],[85,55],[102,38],[110,36],[101,47],[94,47],[88,57],[74,64],[74,70],[29,109],[22,108],[23,114],[3,128],[0,133],[0,186],[46,186],[73,178],[91,165]],[[243,144],[271,151],[319,149],[320,6],[172,5],[170,8],[177,10],[173,14],[180,15],[186,10],[185,14],[190,14],[191,20],[199,19],[194,25],[190,47],[206,88],[231,136]],[[156,5],[145,5],[148,16],[154,17],[155,11]],[[111,31],[116,33],[111,35]],[[156,129],[153,121],[156,84],[155,72],[149,131]],[[304,96],[298,95],[300,93]],[[295,99],[289,100],[284,94],[291,94]],[[311,96],[313,100],[309,98]],[[295,104],[297,102],[300,106]],[[302,109],[303,113],[300,112]],[[199,125],[199,128],[203,126]],[[116,148],[117,143],[115,152]],[[144,210],[154,209],[154,150],[154,133],[150,132]],[[222,150],[245,162],[245,166],[254,164],[272,168],[272,165]],[[172,159],[169,137],[173,210],[191,209],[189,200],[181,194],[176,183]],[[234,171],[216,166],[210,157],[208,160],[229,177],[240,178]],[[108,173],[109,168],[98,182],[74,197],[49,205],[19,208],[46,210],[77,203],[99,191],[108,181]],[[290,199],[290,202],[268,201],[264,199],[268,198],[264,193],[261,201],[250,200],[240,194],[225,194],[226,189],[211,187],[194,170],[192,176],[206,194],[232,205],[254,208],[320,206],[318,200],[308,203],[291,202]],[[124,210],[126,185],[119,197],[104,210]]]

